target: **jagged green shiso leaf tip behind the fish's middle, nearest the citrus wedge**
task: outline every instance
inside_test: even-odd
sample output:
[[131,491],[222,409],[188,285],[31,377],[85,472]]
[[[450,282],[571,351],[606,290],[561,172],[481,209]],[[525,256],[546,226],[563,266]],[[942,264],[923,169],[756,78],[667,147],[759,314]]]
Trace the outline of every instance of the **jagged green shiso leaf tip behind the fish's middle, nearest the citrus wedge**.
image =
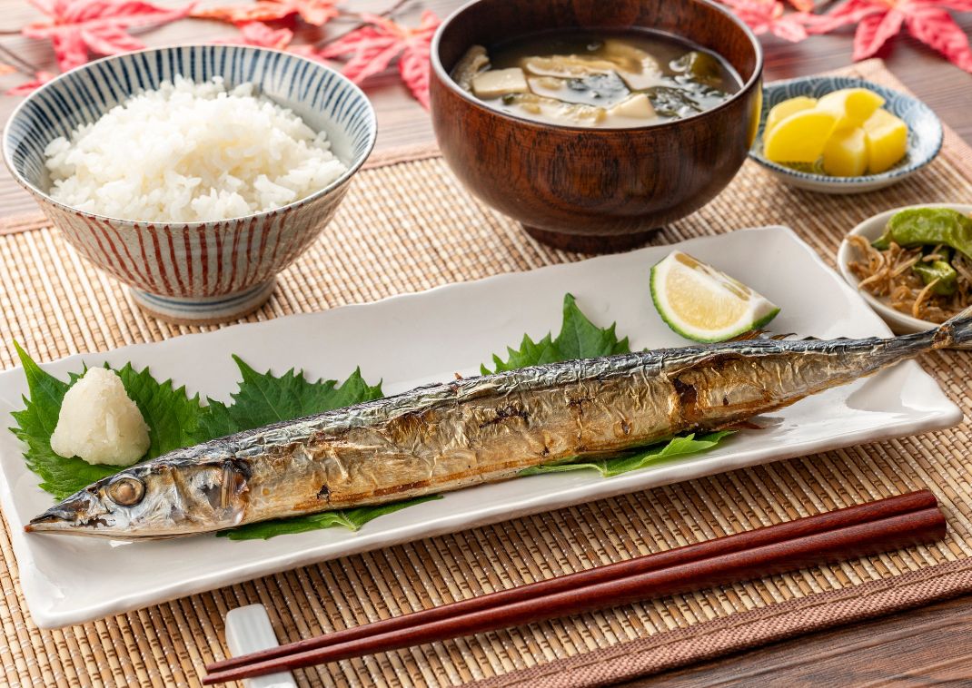
[[506,349],[506,361],[494,354],[493,369],[481,365],[480,370],[483,375],[489,375],[528,365],[594,359],[630,352],[628,337],[618,339],[613,324],[610,327],[597,327],[591,323],[577,307],[573,294],[569,293],[564,296],[564,322],[556,338],[547,334],[535,342],[529,334],[524,334],[519,349]]

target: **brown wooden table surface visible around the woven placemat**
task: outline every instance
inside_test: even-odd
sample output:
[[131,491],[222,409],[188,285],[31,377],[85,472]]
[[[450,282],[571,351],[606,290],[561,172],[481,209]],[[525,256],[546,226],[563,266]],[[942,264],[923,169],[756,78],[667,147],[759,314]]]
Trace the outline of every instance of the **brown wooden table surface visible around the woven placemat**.
[[[540,0],[538,0],[540,1]],[[393,0],[346,0],[346,8],[380,12]],[[402,20],[414,19],[423,8],[440,17],[463,0],[413,0]],[[168,2],[159,4],[181,4]],[[217,3],[228,4],[227,0]],[[16,32],[38,15],[22,0],[0,0],[0,44],[43,69],[53,69],[50,47]],[[956,17],[972,32],[972,14]],[[346,30],[336,21],[330,33],[302,32],[303,40],[321,40]],[[232,29],[212,21],[184,20],[145,33],[149,45],[209,41],[232,35]],[[814,74],[851,62],[851,31],[815,36],[800,44],[764,37],[767,81]],[[972,76],[962,72],[914,39],[900,36],[879,54],[888,68],[927,103],[965,141],[972,143]],[[0,90],[24,81],[19,75],[0,78]],[[377,150],[433,140],[426,112],[389,70],[365,85],[378,113]],[[6,120],[19,98],[0,96],[0,117]],[[936,199],[937,200],[937,199]],[[941,199],[945,200],[945,199]],[[955,199],[968,201],[969,199]],[[30,196],[19,189],[6,169],[0,170],[0,215],[35,213]],[[909,685],[972,684],[972,596],[939,602],[851,628],[794,638],[733,657],[704,662],[642,681],[653,685]]]

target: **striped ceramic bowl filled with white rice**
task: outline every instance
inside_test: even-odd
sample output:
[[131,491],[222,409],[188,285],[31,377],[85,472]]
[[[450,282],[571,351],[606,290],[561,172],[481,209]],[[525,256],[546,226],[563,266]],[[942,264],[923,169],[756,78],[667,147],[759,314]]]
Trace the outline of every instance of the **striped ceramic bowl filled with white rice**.
[[232,320],[316,241],[374,145],[364,93],[243,46],[90,62],[31,93],[4,161],[86,258],[168,321]]

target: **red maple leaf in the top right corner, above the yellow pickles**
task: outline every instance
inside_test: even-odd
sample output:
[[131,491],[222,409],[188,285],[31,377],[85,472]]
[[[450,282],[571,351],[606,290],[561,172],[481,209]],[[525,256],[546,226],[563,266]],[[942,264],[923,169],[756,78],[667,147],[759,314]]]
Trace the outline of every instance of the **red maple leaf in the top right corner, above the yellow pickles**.
[[853,58],[870,57],[904,26],[921,43],[941,52],[956,66],[972,72],[968,36],[948,10],[972,12],[972,0],[848,0],[809,24],[811,33],[827,33],[857,24]]

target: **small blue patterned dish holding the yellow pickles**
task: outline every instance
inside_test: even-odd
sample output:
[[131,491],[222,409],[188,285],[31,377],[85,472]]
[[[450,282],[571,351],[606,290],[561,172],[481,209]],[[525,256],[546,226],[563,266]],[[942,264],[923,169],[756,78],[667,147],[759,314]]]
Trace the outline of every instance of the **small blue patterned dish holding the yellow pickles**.
[[[885,110],[908,124],[908,153],[891,169],[881,174],[862,177],[830,177],[786,167],[763,156],[763,127],[773,106],[787,98],[807,95],[813,98],[840,88],[869,88],[885,98]],[[860,193],[883,189],[900,182],[931,162],[942,148],[942,122],[927,105],[917,98],[896,90],[851,77],[806,77],[774,82],[763,87],[763,112],[756,140],[749,157],[769,170],[782,182],[798,189],[821,193]]]

